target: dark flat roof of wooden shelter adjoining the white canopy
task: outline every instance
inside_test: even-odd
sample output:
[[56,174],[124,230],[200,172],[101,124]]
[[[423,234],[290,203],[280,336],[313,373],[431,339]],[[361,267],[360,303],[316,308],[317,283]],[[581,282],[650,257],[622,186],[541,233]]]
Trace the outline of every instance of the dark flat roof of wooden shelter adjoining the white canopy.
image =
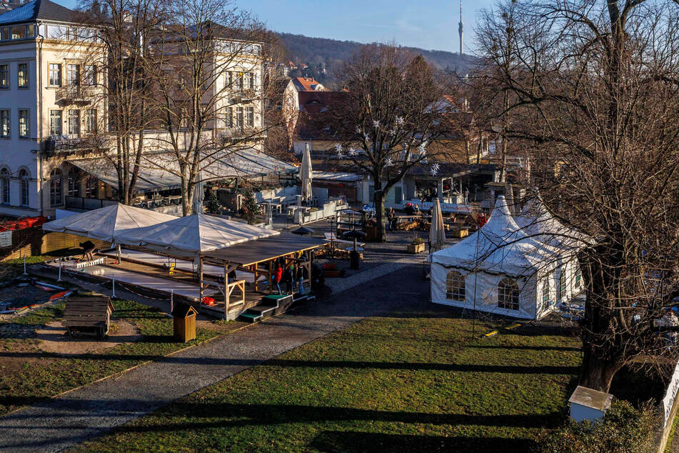
[[281,234],[276,237],[258,239],[251,242],[226,247],[225,249],[213,250],[204,254],[207,258],[217,259],[221,262],[251,264],[268,261],[273,258],[283,257],[295,252],[304,252],[308,249],[321,247],[326,242],[314,237],[297,236],[296,234]]

